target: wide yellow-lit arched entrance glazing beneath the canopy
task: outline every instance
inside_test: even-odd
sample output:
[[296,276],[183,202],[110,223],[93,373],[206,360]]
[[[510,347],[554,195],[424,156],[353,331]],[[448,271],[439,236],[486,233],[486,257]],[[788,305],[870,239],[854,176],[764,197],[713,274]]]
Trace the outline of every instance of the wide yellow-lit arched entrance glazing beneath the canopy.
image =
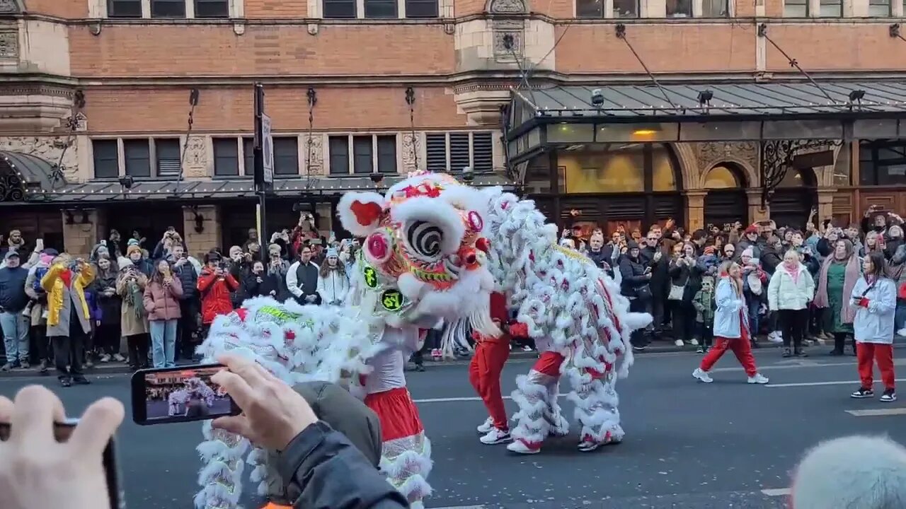
[[[660,143],[596,143],[556,153],[560,223],[644,231],[683,222],[679,161]],[[588,229],[588,228],[585,228]]]

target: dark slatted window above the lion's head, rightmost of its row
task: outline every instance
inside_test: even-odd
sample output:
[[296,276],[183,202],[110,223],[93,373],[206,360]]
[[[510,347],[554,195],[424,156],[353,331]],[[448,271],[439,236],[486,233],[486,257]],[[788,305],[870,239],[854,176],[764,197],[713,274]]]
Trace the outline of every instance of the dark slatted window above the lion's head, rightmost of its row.
[[428,171],[494,169],[494,135],[491,132],[437,132],[425,135]]

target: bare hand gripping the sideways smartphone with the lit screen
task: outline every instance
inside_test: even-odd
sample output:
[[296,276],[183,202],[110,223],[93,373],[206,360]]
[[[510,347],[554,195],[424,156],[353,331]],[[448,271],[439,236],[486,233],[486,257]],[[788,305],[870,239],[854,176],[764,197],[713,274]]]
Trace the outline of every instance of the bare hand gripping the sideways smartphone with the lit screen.
[[283,450],[318,418],[305,399],[254,360],[232,354],[217,357],[229,370],[211,381],[242,408],[242,415],[216,418],[213,427],[248,438],[253,444]]

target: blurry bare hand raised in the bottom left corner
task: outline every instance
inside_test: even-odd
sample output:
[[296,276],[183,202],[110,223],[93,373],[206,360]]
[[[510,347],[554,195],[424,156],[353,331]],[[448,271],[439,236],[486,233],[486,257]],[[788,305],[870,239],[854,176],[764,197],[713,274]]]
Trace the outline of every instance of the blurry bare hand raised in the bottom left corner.
[[69,441],[57,442],[53,423],[65,413],[53,392],[32,385],[19,391],[15,403],[0,396],[0,422],[11,425],[9,439],[0,442],[4,509],[110,507],[103,452],[123,414],[116,399],[99,399]]

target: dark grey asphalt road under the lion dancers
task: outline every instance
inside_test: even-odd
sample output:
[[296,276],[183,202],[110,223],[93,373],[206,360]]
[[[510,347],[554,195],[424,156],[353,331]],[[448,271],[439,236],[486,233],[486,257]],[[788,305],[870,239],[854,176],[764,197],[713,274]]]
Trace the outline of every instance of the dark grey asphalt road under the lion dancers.
[[[857,388],[854,358],[783,360],[776,349],[757,351],[768,386],[748,385],[736,360],[725,358],[705,385],[691,377],[699,356],[640,355],[631,378],[618,386],[626,441],[593,453],[575,449],[570,437],[550,440],[541,454],[511,456],[503,446],[478,442],[475,427],[486,417],[467,382],[464,364],[429,364],[408,373],[433,441],[436,490],[429,507],[460,509],[773,509],[786,506],[790,470],[806,448],[853,433],[889,434],[906,442],[906,403],[884,405],[849,399]],[[906,350],[898,349],[906,365]],[[505,391],[530,360],[507,365]],[[906,368],[901,368],[906,373]],[[906,381],[906,375],[900,375]],[[90,377],[92,378],[92,377]],[[123,375],[92,378],[88,387],[58,389],[53,379],[0,379],[0,394],[13,396],[28,383],[51,384],[71,415],[111,395],[129,412]],[[880,391],[879,391],[880,392]],[[906,393],[903,394],[906,401]],[[507,408],[515,411],[512,402]],[[572,408],[564,403],[566,415]],[[888,415],[866,416],[860,410]],[[853,412],[853,413],[850,413]],[[167,424],[120,430],[120,461],[130,509],[188,507],[198,468],[193,448],[199,425]],[[246,485],[246,492],[251,491]]]

